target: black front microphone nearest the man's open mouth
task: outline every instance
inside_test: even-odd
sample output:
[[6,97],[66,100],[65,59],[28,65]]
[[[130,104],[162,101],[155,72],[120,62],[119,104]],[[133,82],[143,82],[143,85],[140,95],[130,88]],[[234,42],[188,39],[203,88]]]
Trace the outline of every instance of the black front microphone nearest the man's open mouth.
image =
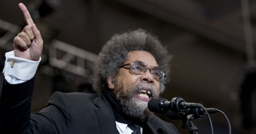
[[187,103],[181,97],[174,97],[171,101],[167,101],[164,98],[150,99],[148,103],[149,111],[164,113],[171,110],[174,113],[183,112],[185,109],[200,108],[203,106],[200,103]]

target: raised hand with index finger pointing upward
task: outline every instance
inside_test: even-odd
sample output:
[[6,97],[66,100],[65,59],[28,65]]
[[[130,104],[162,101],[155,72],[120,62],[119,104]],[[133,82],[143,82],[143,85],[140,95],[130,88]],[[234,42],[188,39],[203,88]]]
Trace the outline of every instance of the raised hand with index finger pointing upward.
[[43,50],[43,39],[35,26],[27,7],[23,3],[19,3],[19,8],[23,12],[27,26],[24,27],[22,32],[14,37],[13,46],[15,56],[38,61]]

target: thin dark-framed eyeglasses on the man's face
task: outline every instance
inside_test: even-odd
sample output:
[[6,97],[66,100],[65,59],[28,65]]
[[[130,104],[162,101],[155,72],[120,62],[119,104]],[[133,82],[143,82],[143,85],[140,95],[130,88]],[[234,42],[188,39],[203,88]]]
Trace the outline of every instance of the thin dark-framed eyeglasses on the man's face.
[[[120,67],[124,67],[124,66],[127,66],[127,65],[131,65],[131,71],[132,72],[135,72],[137,74],[144,74],[146,72],[147,68],[146,66],[140,64],[140,63],[137,63],[137,62],[133,62],[133,63],[127,63],[127,64],[124,64]],[[119,67],[119,68],[120,68]],[[163,81],[164,78],[166,77],[165,73],[159,69],[149,69],[152,77],[158,81]]]

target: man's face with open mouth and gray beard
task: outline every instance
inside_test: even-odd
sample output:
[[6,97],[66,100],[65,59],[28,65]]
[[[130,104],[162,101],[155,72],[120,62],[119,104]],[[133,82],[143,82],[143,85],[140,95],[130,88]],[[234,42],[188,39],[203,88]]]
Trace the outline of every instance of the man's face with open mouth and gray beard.
[[[158,67],[155,58],[146,51],[133,51],[128,53],[126,63],[142,62],[149,69]],[[144,74],[136,74],[131,71],[131,65],[121,67],[113,84],[109,85],[112,92],[120,100],[123,112],[127,115],[148,119],[152,112],[148,110],[148,101],[159,97],[159,81],[153,79],[149,69]]]

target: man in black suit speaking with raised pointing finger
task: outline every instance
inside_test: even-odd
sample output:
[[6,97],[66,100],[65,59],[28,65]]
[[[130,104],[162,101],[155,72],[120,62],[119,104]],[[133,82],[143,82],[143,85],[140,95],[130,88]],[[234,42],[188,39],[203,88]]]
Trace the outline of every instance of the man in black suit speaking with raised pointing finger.
[[55,92],[44,109],[30,114],[43,40],[27,8],[19,7],[27,26],[14,38],[14,52],[6,54],[1,133],[178,133],[147,108],[164,92],[171,56],[141,29],[114,35],[102,48],[94,65],[99,96]]

